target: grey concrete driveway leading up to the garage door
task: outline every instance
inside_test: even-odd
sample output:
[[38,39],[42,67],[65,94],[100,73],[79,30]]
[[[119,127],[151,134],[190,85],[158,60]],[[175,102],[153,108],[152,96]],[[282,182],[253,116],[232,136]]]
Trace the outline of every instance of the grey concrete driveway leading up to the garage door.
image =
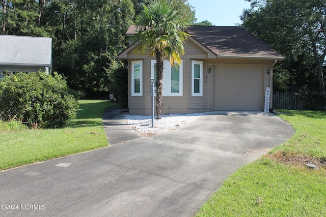
[[257,112],[209,112],[149,138],[114,108],[103,124],[108,148],[0,172],[0,204],[15,208],[0,216],[193,216],[228,175],[294,133]]

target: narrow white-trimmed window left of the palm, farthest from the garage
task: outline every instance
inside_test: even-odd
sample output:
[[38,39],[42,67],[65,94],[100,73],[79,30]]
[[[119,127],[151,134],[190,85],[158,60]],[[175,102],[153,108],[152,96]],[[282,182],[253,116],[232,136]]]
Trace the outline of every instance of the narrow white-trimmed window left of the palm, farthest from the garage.
[[143,61],[131,61],[131,96],[143,96]]

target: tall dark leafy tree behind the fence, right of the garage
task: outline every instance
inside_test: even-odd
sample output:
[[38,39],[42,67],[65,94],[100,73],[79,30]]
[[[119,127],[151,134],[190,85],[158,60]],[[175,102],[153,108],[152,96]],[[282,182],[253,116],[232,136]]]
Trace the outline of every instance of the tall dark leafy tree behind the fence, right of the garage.
[[286,57],[289,74],[292,70],[301,71],[298,60],[304,57],[304,61],[309,63],[308,60],[312,58],[318,91],[324,94],[326,1],[247,1],[251,2],[252,7],[242,14],[243,25]]

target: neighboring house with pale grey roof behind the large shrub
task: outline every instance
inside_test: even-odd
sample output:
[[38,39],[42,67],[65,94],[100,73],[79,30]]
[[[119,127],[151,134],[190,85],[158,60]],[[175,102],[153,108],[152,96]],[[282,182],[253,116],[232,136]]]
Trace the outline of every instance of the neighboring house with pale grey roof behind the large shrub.
[[0,35],[0,79],[3,73],[51,70],[52,39]]

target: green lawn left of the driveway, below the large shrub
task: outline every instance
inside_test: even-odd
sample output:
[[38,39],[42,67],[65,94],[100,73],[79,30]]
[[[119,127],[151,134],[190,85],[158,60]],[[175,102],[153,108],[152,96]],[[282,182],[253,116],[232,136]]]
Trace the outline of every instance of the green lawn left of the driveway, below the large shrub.
[[77,118],[63,129],[26,130],[16,123],[1,122],[0,170],[108,146],[102,114],[112,105],[80,100]]

